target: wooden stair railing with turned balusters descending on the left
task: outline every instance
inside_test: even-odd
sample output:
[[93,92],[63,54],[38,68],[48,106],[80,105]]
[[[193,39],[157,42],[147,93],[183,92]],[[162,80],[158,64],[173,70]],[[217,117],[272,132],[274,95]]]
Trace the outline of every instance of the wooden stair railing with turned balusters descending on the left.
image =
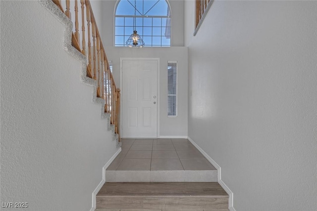
[[[120,89],[115,86],[90,1],[53,0],[53,2],[70,20],[72,20],[70,8],[74,8],[72,45],[87,57],[87,77],[97,81],[97,97],[105,100],[105,112],[110,114],[110,124],[114,125],[114,132],[119,134]],[[65,5],[65,11],[62,5]]]

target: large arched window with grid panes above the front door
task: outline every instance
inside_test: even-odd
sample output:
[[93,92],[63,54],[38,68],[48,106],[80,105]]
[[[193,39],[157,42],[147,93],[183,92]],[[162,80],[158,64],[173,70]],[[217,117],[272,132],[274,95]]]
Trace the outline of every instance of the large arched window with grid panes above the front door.
[[134,26],[145,46],[170,46],[170,8],[166,0],[120,0],[114,22],[114,46],[126,46]]

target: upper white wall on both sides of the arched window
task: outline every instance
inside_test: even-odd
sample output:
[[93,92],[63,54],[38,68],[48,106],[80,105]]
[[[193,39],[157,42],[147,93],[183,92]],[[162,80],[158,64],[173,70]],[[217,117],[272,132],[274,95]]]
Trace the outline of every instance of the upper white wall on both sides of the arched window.
[[[184,0],[168,0],[168,2],[171,8],[171,46],[184,46]],[[114,45],[113,17],[116,3],[117,0],[103,0],[99,3],[98,0],[94,0],[92,4],[94,13],[95,8],[100,6],[95,17],[103,43],[106,46]]]

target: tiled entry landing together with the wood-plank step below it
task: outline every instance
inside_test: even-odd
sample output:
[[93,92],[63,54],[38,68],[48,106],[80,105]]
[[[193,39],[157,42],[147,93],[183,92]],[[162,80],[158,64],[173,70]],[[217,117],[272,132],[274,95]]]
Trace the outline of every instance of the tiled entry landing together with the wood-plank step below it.
[[96,211],[228,211],[217,170],[187,139],[121,139]]

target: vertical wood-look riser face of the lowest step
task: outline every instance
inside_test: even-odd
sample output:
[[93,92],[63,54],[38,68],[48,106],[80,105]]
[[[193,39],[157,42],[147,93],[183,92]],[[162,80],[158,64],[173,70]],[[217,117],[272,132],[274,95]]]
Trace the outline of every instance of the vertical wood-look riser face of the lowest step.
[[228,198],[97,197],[97,209],[228,209]]

